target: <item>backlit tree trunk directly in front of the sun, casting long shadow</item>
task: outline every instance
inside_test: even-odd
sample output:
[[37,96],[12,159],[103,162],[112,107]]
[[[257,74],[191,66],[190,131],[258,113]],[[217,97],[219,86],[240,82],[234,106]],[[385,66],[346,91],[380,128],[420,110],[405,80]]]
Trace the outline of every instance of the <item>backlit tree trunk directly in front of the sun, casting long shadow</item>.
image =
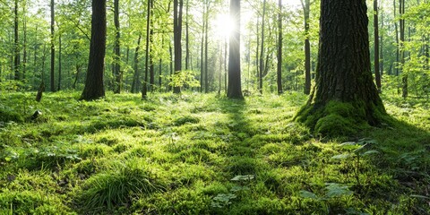
[[234,30],[230,34],[228,49],[228,90],[230,99],[243,99],[240,80],[240,0],[230,0],[230,19]]

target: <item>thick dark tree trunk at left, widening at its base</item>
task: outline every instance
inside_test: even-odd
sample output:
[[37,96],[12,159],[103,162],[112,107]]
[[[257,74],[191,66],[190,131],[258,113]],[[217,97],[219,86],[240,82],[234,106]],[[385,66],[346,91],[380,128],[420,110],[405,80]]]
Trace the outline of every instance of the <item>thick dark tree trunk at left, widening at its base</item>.
[[103,73],[106,54],[106,0],[92,0],[90,59],[81,99],[105,96]]

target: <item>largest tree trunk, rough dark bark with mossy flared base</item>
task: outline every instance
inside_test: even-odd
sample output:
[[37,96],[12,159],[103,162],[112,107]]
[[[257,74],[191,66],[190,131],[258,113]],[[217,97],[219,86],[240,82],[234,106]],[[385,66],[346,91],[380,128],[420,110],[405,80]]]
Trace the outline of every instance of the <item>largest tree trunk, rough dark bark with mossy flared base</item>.
[[366,11],[365,1],[321,2],[316,84],[295,117],[314,133],[350,135],[385,119],[370,69]]

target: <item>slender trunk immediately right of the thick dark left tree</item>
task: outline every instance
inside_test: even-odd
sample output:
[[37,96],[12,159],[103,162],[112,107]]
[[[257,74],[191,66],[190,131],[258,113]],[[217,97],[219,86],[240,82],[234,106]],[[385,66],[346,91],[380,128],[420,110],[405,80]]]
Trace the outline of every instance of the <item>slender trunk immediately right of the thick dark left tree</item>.
[[115,42],[114,42],[114,93],[121,93],[123,75],[121,73],[121,32],[119,26],[119,0],[114,0],[114,24],[115,24]]

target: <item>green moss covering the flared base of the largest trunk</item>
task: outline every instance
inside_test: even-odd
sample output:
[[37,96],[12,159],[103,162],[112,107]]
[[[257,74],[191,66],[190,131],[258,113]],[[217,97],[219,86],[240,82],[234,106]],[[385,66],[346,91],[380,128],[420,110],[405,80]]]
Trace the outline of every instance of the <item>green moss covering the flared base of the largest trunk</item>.
[[364,102],[329,101],[325,106],[306,104],[295,116],[315,134],[328,137],[352,136],[389,121],[381,105]]

